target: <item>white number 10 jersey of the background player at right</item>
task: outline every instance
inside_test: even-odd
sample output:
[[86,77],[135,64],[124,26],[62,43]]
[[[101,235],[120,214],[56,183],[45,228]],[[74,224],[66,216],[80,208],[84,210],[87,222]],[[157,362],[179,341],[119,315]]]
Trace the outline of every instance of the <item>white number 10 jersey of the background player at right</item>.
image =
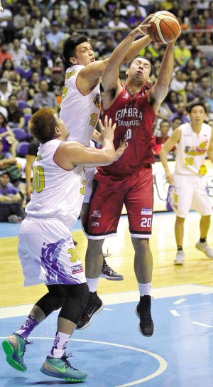
[[189,123],[180,125],[182,134],[178,143],[176,154],[176,174],[204,174],[204,160],[207,155],[212,129],[207,124],[202,124],[200,133],[197,134]]

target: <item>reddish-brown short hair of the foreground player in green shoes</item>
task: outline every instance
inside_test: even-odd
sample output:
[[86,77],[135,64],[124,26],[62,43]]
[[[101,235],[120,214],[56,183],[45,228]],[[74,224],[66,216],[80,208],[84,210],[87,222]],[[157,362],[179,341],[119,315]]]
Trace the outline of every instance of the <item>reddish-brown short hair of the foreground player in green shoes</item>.
[[43,107],[34,113],[28,122],[28,129],[39,142],[48,142],[55,134],[55,110]]

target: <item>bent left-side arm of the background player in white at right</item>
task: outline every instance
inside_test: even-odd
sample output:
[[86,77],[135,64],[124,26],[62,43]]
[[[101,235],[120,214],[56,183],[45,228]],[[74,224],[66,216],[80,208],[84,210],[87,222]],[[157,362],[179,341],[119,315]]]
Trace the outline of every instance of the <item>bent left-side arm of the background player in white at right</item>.
[[180,141],[180,137],[182,134],[182,130],[180,127],[174,130],[171,137],[165,142],[162,149],[160,150],[160,161],[163,164],[163,168],[165,169],[165,179],[168,181],[169,184],[173,184],[173,174],[171,174],[170,169],[168,167],[168,160],[167,160],[167,154],[170,152],[173,147],[175,147],[175,144],[178,144]]

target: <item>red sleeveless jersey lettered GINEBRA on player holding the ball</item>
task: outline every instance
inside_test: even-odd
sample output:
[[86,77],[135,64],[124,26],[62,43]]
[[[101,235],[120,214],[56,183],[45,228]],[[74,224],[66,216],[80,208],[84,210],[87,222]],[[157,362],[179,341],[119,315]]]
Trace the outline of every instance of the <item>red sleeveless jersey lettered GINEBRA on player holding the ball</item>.
[[[120,140],[128,142],[128,147],[119,160],[113,164],[99,167],[99,171],[109,171],[111,174],[130,174],[137,169],[154,164],[153,123],[155,112],[146,97],[145,88],[135,95],[127,90],[123,84],[116,100],[109,109],[104,110],[104,117],[108,115],[112,123],[116,123],[114,132],[114,147],[117,149]],[[103,117],[103,120],[104,120]]]

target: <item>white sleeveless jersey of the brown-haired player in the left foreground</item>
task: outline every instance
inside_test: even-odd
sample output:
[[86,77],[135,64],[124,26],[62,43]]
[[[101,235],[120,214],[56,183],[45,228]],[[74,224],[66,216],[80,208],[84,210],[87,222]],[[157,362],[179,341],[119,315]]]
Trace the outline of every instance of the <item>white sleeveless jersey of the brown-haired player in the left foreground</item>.
[[71,228],[80,215],[85,191],[82,166],[65,171],[53,160],[61,141],[53,139],[40,144],[33,164],[33,193],[26,206],[27,216],[60,218]]

